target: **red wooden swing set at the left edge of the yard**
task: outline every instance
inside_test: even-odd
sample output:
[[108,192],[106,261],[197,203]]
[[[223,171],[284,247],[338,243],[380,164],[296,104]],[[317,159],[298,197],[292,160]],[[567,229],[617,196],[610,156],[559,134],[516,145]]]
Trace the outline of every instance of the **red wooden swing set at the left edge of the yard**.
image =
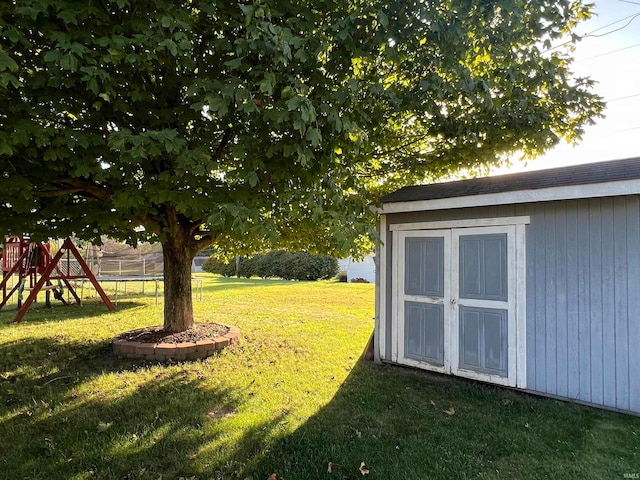
[[[14,281],[10,282],[11,279]],[[49,242],[31,242],[29,235],[24,234],[5,237],[4,249],[2,250],[2,281],[0,281],[2,301],[0,309],[17,292],[18,313],[13,319],[15,323],[22,321],[31,305],[36,301],[38,293],[42,291],[46,294],[45,304],[49,308],[51,307],[51,292],[56,300],[68,305],[64,299],[65,287],[75,299],[75,303],[82,305],[82,300],[73,288],[71,280],[89,280],[107,308],[115,310],[111,300],[104,293],[95,275],[70,238],[64,240],[60,250],[52,257]],[[29,294],[23,301],[25,291],[28,291]]]

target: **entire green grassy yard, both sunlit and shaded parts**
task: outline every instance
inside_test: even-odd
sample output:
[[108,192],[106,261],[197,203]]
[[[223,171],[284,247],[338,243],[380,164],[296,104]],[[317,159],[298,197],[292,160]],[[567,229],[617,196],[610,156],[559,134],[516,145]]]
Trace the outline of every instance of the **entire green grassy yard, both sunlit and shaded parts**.
[[116,358],[112,337],[161,323],[149,294],[0,312],[0,478],[640,474],[638,417],[361,360],[372,285],[205,276],[195,312],[242,340],[192,363]]

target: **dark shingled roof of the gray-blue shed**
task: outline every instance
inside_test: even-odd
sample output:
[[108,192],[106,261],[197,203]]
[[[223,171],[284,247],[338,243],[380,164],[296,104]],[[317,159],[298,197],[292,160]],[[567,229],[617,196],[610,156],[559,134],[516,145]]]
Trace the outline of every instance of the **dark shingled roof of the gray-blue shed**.
[[415,202],[636,179],[640,179],[640,157],[455,182],[414,185],[382,197],[381,202]]

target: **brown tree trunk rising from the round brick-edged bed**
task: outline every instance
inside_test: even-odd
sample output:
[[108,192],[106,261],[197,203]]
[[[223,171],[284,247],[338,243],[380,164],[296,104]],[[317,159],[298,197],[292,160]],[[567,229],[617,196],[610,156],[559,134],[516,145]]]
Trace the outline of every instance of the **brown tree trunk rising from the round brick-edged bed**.
[[164,259],[164,330],[183,332],[193,327],[191,263],[196,254],[193,238],[176,228],[162,242]]

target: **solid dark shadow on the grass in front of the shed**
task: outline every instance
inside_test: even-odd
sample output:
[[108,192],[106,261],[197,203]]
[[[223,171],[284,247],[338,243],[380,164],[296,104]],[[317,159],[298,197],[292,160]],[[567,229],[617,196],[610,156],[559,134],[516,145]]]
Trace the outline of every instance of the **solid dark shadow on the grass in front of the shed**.
[[639,469],[640,418],[360,361],[333,400],[247,474],[600,479]]

